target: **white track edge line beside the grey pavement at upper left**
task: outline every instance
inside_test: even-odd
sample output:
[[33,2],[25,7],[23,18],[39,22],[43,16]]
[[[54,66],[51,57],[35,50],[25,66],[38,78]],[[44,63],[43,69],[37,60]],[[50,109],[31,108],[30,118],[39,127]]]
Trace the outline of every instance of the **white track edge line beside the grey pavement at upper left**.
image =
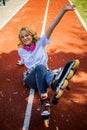
[[[12,15],[11,15],[10,17],[8,17],[8,19],[3,22],[3,24],[0,26],[0,30],[12,19],[12,17],[13,17],[28,1],[29,1],[29,0],[25,0],[21,5],[19,5],[19,7],[18,7],[16,10],[13,9],[14,11],[12,11]],[[9,4],[11,4],[11,3],[9,3]],[[12,4],[14,4],[14,3],[12,3]],[[4,8],[5,8],[5,9],[8,8],[7,5],[4,6]],[[4,17],[5,17],[5,16],[4,16]]]

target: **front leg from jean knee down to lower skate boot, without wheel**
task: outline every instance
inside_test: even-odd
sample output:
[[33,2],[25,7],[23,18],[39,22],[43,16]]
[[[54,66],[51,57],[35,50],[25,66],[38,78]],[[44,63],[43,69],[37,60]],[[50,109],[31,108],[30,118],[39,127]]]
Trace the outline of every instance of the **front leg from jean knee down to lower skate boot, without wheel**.
[[36,71],[36,83],[41,95],[40,101],[41,105],[44,107],[41,111],[41,116],[45,118],[49,118],[50,116],[50,101],[48,98],[47,93],[47,83],[46,83],[46,75],[47,75],[47,68],[44,65],[39,65],[35,69]]

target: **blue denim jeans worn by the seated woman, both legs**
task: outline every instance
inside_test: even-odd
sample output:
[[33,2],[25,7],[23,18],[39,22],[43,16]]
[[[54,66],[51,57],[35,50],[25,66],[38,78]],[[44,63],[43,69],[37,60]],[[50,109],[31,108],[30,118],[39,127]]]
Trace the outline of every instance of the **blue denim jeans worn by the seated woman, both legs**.
[[46,93],[47,87],[51,85],[54,78],[54,73],[48,70],[44,65],[38,65],[34,70],[32,70],[25,83],[33,89],[38,89],[39,93]]

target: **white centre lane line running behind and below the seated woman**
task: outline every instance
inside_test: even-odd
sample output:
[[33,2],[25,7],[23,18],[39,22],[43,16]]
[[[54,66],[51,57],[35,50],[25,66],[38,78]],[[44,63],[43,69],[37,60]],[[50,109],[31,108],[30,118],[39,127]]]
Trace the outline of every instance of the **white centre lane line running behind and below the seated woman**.
[[[49,3],[50,3],[50,0],[47,1],[41,35],[44,33],[44,30],[45,30]],[[31,111],[32,111],[32,103],[33,103],[33,99],[34,99],[34,92],[35,92],[34,89],[30,89],[30,93],[29,93],[29,97],[28,97],[28,104],[27,104],[27,109],[26,109],[26,113],[25,113],[25,119],[24,119],[24,124],[23,124],[22,130],[28,130],[29,125],[30,125],[30,117],[31,117]]]

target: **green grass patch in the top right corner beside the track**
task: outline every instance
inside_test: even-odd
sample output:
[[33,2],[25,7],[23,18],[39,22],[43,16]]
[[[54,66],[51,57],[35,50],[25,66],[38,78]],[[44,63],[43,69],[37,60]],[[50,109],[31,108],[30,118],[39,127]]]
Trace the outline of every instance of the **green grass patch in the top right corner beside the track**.
[[78,13],[87,25],[87,0],[71,0],[71,2],[76,6]]

